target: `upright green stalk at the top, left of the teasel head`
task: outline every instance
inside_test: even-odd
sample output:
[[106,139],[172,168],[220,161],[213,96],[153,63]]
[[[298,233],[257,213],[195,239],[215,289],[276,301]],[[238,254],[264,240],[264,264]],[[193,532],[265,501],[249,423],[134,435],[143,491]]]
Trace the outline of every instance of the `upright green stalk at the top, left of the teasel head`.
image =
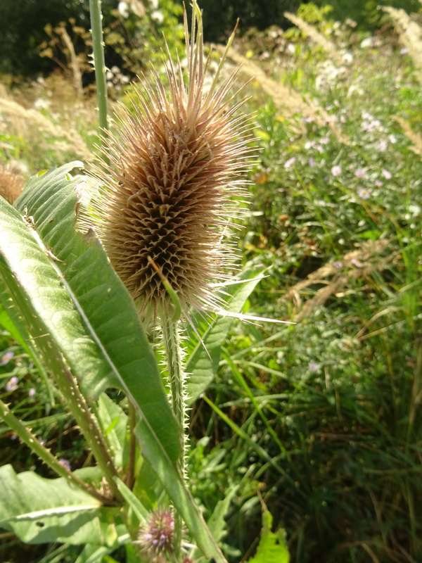
[[104,59],[101,0],[89,0],[89,12],[91,14],[92,46],[98,100],[98,122],[100,125],[100,139],[102,141],[104,132],[108,130],[108,120],[106,61]]

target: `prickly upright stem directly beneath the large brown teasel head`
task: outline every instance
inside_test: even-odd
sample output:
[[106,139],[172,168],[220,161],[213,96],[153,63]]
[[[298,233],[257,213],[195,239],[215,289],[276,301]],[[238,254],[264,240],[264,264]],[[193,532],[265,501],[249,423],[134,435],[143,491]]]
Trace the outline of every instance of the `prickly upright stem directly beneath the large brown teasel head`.
[[[186,377],[183,369],[183,350],[180,343],[179,323],[168,315],[162,317],[162,336],[167,356],[167,371],[173,412],[181,431],[181,455],[177,468],[186,481]],[[174,555],[179,557],[183,532],[183,520],[174,513]]]

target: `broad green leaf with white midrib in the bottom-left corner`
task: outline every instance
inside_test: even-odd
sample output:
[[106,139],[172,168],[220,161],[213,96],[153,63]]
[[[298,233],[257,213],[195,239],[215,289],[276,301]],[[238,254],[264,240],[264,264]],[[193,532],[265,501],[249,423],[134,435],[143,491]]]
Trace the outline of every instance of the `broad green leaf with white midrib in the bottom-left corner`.
[[0,527],[25,543],[116,543],[113,518],[118,509],[102,507],[66,479],[16,474],[11,465],[4,465],[0,490]]

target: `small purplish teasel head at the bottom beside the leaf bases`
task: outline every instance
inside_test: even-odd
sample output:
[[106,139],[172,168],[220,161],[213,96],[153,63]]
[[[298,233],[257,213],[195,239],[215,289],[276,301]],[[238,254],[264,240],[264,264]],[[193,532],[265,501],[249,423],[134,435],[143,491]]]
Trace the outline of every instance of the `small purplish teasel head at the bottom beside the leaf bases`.
[[138,543],[151,559],[173,552],[174,518],[170,510],[157,510],[141,526]]

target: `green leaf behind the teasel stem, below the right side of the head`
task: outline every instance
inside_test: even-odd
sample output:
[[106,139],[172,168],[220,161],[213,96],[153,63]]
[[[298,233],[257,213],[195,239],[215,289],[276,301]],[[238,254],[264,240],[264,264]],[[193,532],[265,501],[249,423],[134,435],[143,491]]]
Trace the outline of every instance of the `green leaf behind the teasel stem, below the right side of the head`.
[[[224,286],[221,294],[226,301],[225,310],[235,314],[240,312],[261,277],[262,267],[255,267],[242,272],[239,276],[239,279],[244,280],[242,283]],[[191,375],[186,389],[189,404],[193,403],[214,379],[219,365],[220,350],[233,317],[212,315],[211,318],[204,319],[203,315],[198,313],[193,315],[192,322],[202,342],[198,341],[192,328],[188,329],[186,373]]]

